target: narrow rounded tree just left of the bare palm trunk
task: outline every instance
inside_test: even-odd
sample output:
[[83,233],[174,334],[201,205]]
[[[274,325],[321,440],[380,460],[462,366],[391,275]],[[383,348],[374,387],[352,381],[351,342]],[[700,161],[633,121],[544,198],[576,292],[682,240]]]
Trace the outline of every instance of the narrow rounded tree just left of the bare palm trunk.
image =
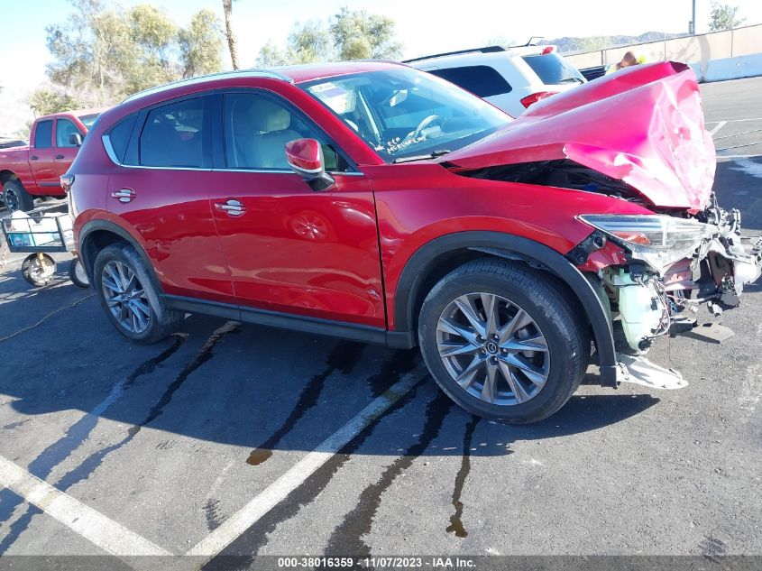
[[201,10],[178,33],[183,77],[192,78],[222,69],[222,38],[214,12]]

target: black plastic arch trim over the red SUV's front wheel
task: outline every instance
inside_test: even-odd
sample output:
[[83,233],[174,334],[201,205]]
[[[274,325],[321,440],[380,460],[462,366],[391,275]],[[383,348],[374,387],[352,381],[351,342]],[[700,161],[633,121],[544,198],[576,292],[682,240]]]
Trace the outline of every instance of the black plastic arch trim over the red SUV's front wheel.
[[579,299],[590,320],[600,360],[601,384],[617,386],[617,358],[611,318],[592,284],[584,277],[583,272],[562,254],[544,244],[517,235],[489,231],[457,232],[441,236],[421,246],[405,264],[397,283],[394,324],[398,336],[408,339],[411,346],[416,345],[416,316],[413,315],[413,311],[419,289],[427,278],[428,271],[432,269],[431,264],[440,256],[457,250],[471,250],[511,260],[522,260],[552,272],[563,280]]

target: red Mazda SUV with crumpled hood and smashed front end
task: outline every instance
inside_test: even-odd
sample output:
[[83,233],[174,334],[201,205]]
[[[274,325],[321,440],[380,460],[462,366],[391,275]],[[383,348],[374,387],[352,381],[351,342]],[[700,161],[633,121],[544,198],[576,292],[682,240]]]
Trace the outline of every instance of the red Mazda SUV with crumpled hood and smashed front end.
[[199,312],[418,345],[464,409],[525,423],[568,401],[593,345],[603,385],[684,386],[642,356],[651,340],[699,299],[736,305],[760,272],[714,165],[681,64],[513,120],[363,61],[143,91],[100,115],[61,184],[90,282],[133,341]]

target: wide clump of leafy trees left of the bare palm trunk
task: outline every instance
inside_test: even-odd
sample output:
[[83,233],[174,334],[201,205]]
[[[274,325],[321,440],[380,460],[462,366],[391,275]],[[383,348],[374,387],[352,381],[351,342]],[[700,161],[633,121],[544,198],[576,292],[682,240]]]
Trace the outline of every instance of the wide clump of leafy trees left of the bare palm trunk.
[[151,5],[124,11],[104,0],[69,1],[69,19],[46,28],[53,55],[48,75],[87,106],[114,104],[146,87],[220,68],[221,32],[208,10],[180,29]]

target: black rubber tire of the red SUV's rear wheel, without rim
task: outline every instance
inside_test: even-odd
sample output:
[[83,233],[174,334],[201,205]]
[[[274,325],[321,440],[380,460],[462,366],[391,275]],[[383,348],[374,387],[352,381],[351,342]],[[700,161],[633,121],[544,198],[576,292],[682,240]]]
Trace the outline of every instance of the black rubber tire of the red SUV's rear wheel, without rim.
[[[131,331],[109,309],[106,302],[107,287],[104,286],[104,271],[109,262],[118,262],[129,268],[145,292],[149,308],[149,318],[147,327],[142,331]],[[93,266],[93,287],[98,294],[98,299],[100,299],[101,307],[106,313],[106,317],[119,333],[135,343],[141,345],[156,343],[177,331],[182,323],[183,314],[170,309],[161,300],[159,284],[156,283],[151,276],[151,272],[145,267],[140,255],[129,244],[111,244],[97,254],[96,262]]]

